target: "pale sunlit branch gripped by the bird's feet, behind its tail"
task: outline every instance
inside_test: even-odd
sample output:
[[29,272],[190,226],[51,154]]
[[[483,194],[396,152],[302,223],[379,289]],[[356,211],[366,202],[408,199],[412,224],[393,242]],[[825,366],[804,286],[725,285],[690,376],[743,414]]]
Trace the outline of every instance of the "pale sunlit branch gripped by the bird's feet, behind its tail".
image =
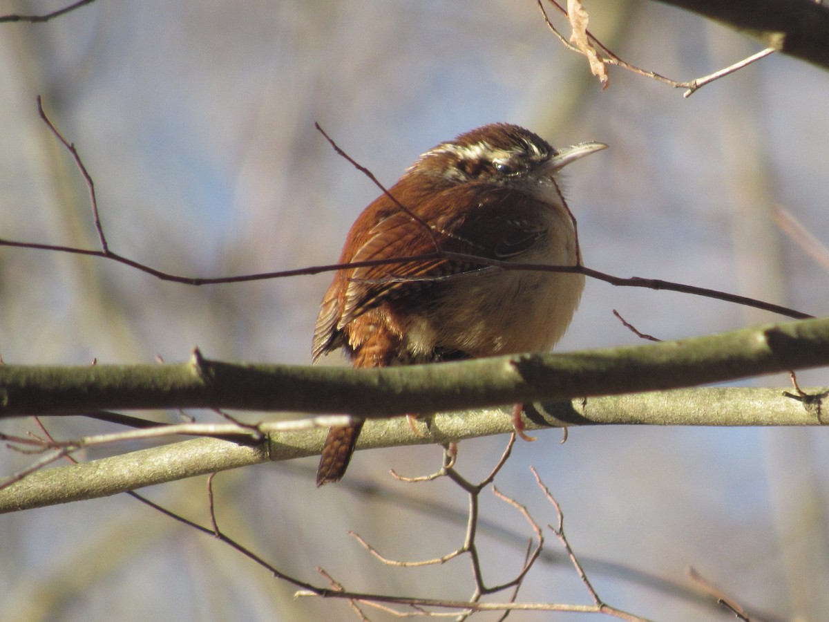
[[[810,389],[808,392],[822,392]],[[415,435],[404,417],[366,423],[357,449],[442,444],[512,431],[508,409],[435,415]],[[780,389],[727,387],[595,397],[536,405],[527,429],[550,425],[817,425],[817,414]],[[201,438],[129,454],[38,471],[0,490],[0,513],[39,508],[163,484],[249,464],[319,454],[326,430],[271,434],[258,445]],[[555,451],[555,445],[550,445]]]

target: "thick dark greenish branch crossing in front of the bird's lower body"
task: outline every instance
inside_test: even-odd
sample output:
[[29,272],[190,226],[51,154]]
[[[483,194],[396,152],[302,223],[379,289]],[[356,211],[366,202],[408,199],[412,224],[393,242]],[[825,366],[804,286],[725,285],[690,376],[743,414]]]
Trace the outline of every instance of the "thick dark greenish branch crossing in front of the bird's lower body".
[[695,386],[829,365],[829,318],[644,346],[410,367],[0,367],[0,417],[229,408],[381,417]]

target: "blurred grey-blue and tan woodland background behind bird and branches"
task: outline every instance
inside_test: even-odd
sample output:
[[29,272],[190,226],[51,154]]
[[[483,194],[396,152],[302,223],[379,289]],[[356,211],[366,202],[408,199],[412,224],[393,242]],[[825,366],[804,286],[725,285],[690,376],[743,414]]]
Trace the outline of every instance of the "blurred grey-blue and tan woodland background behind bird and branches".
[[[0,14],[64,4],[0,2]],[[587,8],[591,31],[619,56],[677,80],[760,49],[655,2]],[[315,121],[387,185],[434,144],[508,121],[555,145],[610,145],[567,169],[589,267],[825,314],[826,271],[783,235],[773,212],[784,207],[829,239],[829,74],[773,55],[688,99],[681,92],[615,68],[601,90],[531,0],[99,0],[46,24],[0,24],[0,237],[97,248],[85,185],[38,119],[36,95],[95,179],[110,247],[204,277],[337,260],[378,191],[332,152]],[[0,248],[0,354],[16,364],[172,362],[198,345],[225,360],[308,363],[330,279],[196,288],[104,260]],[[664,339],[778,319],[589,281],[558,349],[641,343],[613,309]],[[827,385],[825,371],[798,378]],[[756,383],[788,386],[788,378]],[[115,430],[90,420],[47,425],[61,438]],[[0,430],[35,427],[4,421]],[[537,522],[555,522],[529,472],[536,466],[608,603],[657,620],[732,619],[689,596],[686,567],[694,566],[772,619],[818,620],[829,610],[827,430],[606,427],[572,429],[559,441],[554,430],[517,445],[497,485]],[[482,478],[506,442],[464,442],[458,468]],[[0,449],[0,472],[30,459]],[[429,446],[361,452],[342,484],[320,490],[315,459],[222,473],[216,510],[230,536],[304,580],[324,583],[314,571],[322,566],[351,590],[466,599],[465,558],[389,568],[347,535],[359,532],[398,559],[459,546],[463,522],[432,504],[463,514],[465,495],[387,474],[426,474],[439,460]],[[142,492],[205,523],[205,489],[194,479]],[[479,537],[494,584],[521,567],[531,530],[490,493],[482,515],[518,537]],[[2,516],[0,533],[7,620],[353,615],[343,602],[293,600],[291,586],[245,557],[124,495]],[[536,567],[518,600],[589,603],[549,532],[546,547],[555,562]]]

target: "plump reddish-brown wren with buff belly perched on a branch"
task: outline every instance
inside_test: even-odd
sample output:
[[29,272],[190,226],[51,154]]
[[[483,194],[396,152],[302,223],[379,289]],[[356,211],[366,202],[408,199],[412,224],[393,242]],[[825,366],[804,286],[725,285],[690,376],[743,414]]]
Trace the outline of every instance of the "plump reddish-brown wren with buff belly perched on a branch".
[[[357,217],[341,264],[436,250],[525,264],[581,265],[561,168],[606,148],[556,149],[511,124],[473,129],[420,156]],[[401,207],[402,206],[402,207]],[[405,209],[404,209],[405,207]],[[437,246],[437,248],[436,248]],[[354,367],[549,350],[584,276],[499,270],[473,260],[411,260],[338,270],[313,335],[313,360],[342,347]],[[519,432],[521,405],[516,405]],[[342,478],[362,423],[328,432],[317,485]]]

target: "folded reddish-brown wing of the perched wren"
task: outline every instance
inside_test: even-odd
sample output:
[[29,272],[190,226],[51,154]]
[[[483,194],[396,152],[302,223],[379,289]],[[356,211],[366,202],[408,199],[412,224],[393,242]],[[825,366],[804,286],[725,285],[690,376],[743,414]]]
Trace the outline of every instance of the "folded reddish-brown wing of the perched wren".
[[[458,205],[468,207],[458,210]],[[468,182],[432,192],[407,207],[429,224],[434,240],[423,223],[384,195],[367,207],[351,227],[351,243],[347,242],[340,262],[426,255],[436,250],[434,241],[441,250],[504,260],[521,255],[546,233],[538,202],[507,187],[487,184],[481,188],[478,183]],[[342,346],[342,328],[368,309],[385,300],[414,294],[434,284],[438,277],[481,267],[474,262],[437,259],[337,272],[317,318],[314,360]]]

